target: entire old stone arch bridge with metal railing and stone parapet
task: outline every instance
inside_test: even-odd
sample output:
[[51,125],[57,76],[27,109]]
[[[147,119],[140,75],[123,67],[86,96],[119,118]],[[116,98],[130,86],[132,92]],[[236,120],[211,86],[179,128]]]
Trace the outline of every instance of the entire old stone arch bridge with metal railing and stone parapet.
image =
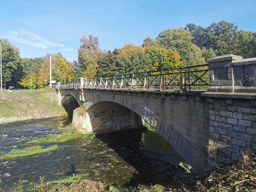
[[[87,131],[109,133],[146,121],[194,169],[224,165],[240,151],[256,150],[256,58],[226,55],[208,62],[209,69],[189,69],[192,80],[184,69],[179,81],[160,72],[59,83],[59,105],[68,112],[84,106],[86,114],[74,110],[73,121],[80,120]],[[208,75],[208,91],[191,90],[207,85],[202,74]]]

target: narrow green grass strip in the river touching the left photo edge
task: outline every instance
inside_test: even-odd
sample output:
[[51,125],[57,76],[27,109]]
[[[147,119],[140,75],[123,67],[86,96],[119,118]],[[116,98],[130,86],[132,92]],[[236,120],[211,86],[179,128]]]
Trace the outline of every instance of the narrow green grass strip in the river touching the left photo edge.
[[42,148],[42,146],[32,146],[24,149],[13,149],[10,153],[3,154],[0,159],[11,159],[16,157],[25,157],[29,155],[45,153],[48,151],[53,151],[58,148],[58,145],[52,145],[47,148]]

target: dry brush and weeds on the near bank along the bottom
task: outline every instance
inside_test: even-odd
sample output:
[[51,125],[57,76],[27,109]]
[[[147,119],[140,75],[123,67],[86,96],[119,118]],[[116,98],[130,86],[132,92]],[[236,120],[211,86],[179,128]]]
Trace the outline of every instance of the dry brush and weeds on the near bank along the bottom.
[[[256,156],[255,154],[240,154],[242,157],[233,162],[229,166],[220,167],[215,171],[209,172],[206,175],[190,177],[184,179],[177,179],[169,184],[163,186],[160,184],[145,186],[138,185],[137,187],[124,187],[121,185],[111,188],[112,192],[256,192]],[[73,179],[81,179],[77,175],[73,175]],[[72,180],[69,181],[69,183]],[[16,190],[12,192],[22,191],[24,189],[24,180],[16,184]],[[53,182],[46,182],[40,178],[40,183],[32,183],[35,187],[29,191],[31,192],[99,192],[104,190],[88,189],[88,187],[81,182],[78,184],[54,184]],[[109,185],[108,182],[104,182]],[[112,185],[110,187],[113,187]]]

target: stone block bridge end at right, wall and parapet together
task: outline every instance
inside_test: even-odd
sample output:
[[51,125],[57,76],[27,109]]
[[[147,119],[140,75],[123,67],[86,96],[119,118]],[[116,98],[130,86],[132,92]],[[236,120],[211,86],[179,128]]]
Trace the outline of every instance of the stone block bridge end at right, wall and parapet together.
[[223,166],[241,151],[256,151],[256,58],[208,60],[209,165]]

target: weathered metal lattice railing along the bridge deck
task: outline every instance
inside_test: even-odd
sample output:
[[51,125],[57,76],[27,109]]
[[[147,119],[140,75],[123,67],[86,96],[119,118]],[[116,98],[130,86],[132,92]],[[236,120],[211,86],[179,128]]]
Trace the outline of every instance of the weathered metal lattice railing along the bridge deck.
[[206,90],[209,87],[209,70],[208,64],[204,64],[176,69],[115,75],[113,77],[82,78],[81,82],[73,81],[60,83],[59,85],[59,88]]

